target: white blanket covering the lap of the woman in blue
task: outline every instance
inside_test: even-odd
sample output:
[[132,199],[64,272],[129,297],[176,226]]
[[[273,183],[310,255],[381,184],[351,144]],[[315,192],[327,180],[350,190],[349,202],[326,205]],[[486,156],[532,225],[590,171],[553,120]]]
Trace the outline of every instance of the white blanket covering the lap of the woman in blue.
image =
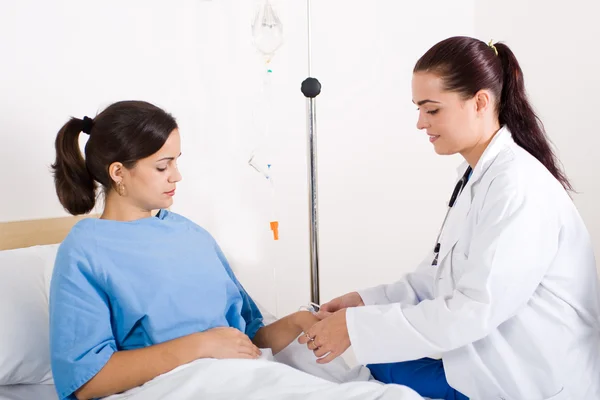
[[296,342],[275,358],[267,349],[260,360],[201,359],[105,400],[423,400],[405,386],[374,381],[365,367],[350,369],[341,358],[325,366],[315,361]]

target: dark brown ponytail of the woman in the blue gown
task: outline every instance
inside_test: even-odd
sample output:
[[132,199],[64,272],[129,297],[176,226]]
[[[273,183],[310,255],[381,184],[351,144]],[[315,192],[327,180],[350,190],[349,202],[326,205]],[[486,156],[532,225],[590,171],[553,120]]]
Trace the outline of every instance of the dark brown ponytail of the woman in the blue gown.
[[84,121],[71,118],[56,137],[56,161],[52,164],[56,194],[71,214],[87,214],[96,204],[96,183],[79,149]]

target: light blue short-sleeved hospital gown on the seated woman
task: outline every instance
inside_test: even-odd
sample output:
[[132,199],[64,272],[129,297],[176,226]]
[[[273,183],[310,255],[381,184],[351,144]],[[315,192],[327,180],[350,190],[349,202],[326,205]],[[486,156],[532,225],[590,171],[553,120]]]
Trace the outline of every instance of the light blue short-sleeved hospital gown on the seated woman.
[[61,244],[50,288],[50,351],[58,397],[96,375],[115,351],[215,327],[253,338],[256,304],[212,236],[161,210],[132,222],[85,219]]

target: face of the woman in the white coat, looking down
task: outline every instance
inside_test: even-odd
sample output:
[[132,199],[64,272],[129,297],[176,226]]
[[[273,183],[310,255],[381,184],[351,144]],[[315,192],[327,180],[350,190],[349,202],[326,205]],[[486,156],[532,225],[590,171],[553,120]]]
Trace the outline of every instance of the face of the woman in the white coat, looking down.
[[429,72],[413,74],[412,95],[419,111],[417,129],[425,130],[436,153],[461,153],[477,142],[474,99],[444,90],[442,79]]

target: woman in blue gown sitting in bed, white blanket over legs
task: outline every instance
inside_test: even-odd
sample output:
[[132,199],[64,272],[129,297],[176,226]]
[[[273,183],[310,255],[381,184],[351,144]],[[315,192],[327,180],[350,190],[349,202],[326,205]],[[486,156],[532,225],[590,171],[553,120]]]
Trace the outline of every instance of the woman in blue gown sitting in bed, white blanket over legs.
[[[85,158],[80,132],[89,134]],[[98,186],[106,200],[100,219],[73,227],[53,271],[50,353],[60,400],[119,393],[132,400],[246,398],[251,390],[254,398],[277,400],[315,391],[339,400],[367,392],[371,397],[359,397],[379,399],[385,392],[397,399],[410,392],[330,382],[345,381],[338,378],[347,368],[330,370],[331,377],[338,373],[335,379],[320,379],[258,360],[262,348],[297,367],[310,356],[315,366],[305,347],[289,351],[315,317],[298,312],[265,326],[212,236],[166,211],[181,180],[180,136],[170,114],[145,102],[115,103],[94,119],[71,118],[55,144],[52,167],[65,209],[90,212]],[[231,375],[223,376],[223,368]],[[358,375],[370,377],[368,371],[366,378]],[[256,392],[249,378],[262,379],[268,393]]]

